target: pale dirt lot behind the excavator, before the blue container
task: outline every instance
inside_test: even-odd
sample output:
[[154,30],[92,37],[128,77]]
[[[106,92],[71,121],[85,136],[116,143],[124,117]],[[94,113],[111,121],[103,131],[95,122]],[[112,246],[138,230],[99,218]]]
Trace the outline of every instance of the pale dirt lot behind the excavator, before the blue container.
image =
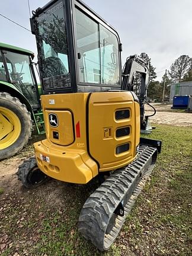
[[[155,116],[150,117],[151,123],[172,124],[174,126],[192,126],[192,113],[185,113],[184,110],[172,110],[172,105],[152,104],[156,109]],[[146,107],[146,114],[153,114],[151,107]],[[181,112],[180,112],[181,111]]]

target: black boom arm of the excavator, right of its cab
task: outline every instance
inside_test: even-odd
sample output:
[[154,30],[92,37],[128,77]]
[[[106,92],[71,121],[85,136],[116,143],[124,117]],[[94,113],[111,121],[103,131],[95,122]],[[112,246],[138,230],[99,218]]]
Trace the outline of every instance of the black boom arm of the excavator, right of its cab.
[[149,63],[146,63],[143,59],[137,55],[132,55],[127,58],[126,63],[123,68],[123,81],[122,89],[125,91],[133,91],[133,81],[135,78],[135,73],[140,73],[141,84],[140,84],[140,94],[137,95],[140,103],[140,127],[146,130],[148,123],[148,117],[145,116],[145,103],[147,97],[148,81],[149,81]]

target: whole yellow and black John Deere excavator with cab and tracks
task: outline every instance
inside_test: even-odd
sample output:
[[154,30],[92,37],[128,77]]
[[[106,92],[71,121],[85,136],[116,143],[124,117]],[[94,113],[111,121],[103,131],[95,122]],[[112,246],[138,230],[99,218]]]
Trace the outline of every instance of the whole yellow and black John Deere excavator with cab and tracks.
[[[79,0],[54,0],[36,9],[31,31],[39,53],[46,139],[34,143],[35,158],[20,165],[18,179],[33,188],[47,177],[75,184],[100,177],[78,227],[105,251],[161,152],[160,140],[140,138],[148,65],[130,56],[122,75],[117,31]],[[135,72],[142,77],[139,98],[133,92]]]

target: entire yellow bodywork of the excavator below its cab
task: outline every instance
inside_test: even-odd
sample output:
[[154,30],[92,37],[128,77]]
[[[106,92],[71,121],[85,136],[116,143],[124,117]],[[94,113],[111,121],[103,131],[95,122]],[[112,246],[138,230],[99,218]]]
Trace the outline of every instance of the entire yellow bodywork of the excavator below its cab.
[[[37,165],[47,175],[69,183],[88,183],[101,171],[132,162],[139,144],[139,104],[131,92],[78,92],[41,96],[46,140],[34,143]],[[129,117],[117,120],[116,111],[129,110]],[[59,124],[50,125],[49,114]],[[129,129],[126,136],[116,131]],[[58,138],[53,137],[58,133]],[[117,147],[129,149],[117,152]]]

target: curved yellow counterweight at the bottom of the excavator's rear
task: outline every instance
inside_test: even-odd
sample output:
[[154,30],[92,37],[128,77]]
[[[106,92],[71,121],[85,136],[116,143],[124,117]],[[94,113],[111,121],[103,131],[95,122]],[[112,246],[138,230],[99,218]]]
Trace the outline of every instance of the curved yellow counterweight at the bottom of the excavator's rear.
[[98,174],[97,165],[82,149],[63,150],[49,143],[48,140],[34,143],[34,147],[37,165],[52,178],[69,183],[86,184]]

